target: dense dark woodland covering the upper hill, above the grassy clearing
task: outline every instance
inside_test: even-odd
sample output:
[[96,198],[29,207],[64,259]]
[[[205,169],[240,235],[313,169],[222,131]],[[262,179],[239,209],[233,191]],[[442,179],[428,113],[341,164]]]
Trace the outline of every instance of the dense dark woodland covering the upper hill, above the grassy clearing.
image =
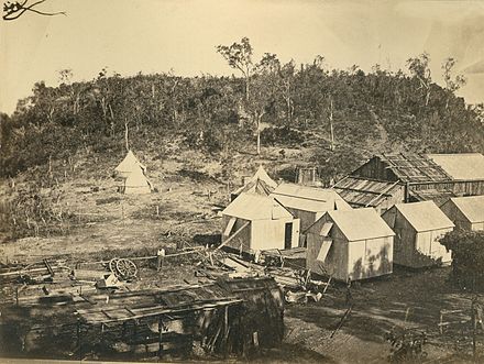
[[441,87],[428,54],[409,58],[406,70],[375,65],[365,73],[327,69],[323,57],[284,64],[266,53],[256,60],[248,38],[217,52],[232,77],[102,69],[75,82],[65,69],[57,87],[36,82],[12,115],[1,114],[2,176],[68,162],[79,151],[121,155],[127,143],[138,151],[152,145],[164,157],[165,142],[175,140],[216,159],[308,148],[301,162],[332,177],[385,151],[484,152],[483,106],[455,96],[465,79],[453,73],[452,58],[442,60]]

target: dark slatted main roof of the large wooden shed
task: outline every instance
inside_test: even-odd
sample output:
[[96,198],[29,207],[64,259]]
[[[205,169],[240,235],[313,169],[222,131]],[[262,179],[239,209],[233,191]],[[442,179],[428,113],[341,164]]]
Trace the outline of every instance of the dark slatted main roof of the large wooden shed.
[[385,163],[395,176],[404,183],[443,181],[451,177],[432,159],[420,154],[381,154],[376,156]]

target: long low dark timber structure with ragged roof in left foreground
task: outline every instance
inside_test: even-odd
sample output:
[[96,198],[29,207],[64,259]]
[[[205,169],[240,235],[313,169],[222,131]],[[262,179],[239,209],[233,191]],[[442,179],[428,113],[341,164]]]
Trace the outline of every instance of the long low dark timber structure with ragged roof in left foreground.
[[[10,319],[2,322],[3,331],[23,338],[22,346],[29,341],[32,352],[50,341],[65,345],[65,352],[79,360],[89,355],[102,359],[105,353],[112,357],[113,352],[120,357],[127,357],[123,353],[187,357],[194,348],[202,355],[246,356],[260,348],[277,345],[284,334],[283,293],[266,277],[111,295],[67,295],[41,306],[20,305],[9,311],[19,311],[19,316],[33,309],[57,311],[55,317],[62,323],[52,324],[55,319],[51,324],[31,322],[20,332],[19,322]],[[25,351],[28,355],[30,349]]]

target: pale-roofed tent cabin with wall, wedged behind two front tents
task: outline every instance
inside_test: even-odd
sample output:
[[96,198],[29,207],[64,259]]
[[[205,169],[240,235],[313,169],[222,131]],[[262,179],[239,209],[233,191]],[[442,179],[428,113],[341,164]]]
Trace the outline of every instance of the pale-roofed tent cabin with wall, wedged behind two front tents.
[[300,219],[301,232],[305,232],[327,211],[351,210],[350,205],[332,189],[280,184],[271,196]]

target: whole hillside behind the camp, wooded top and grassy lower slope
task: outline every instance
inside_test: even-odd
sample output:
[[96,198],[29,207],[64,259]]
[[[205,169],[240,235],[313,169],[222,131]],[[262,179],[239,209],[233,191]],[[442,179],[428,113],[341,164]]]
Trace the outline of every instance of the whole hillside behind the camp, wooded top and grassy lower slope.
[[[160,190],[132,205],[151,214],[174,203],[158,216],[172,224],[183,211],[211,216],[258,164],[286,180],[297,166],[315,165],[329,183],[381,152],[484,152],[482,107],[437,84],[422,87],[418,73],[326,70],[316,60],[296,68],[274,57],[249,80],[103,69],[91,81],[37,82],[12,115],[1,115],[3,234],[63,234],[66,221],[92,222],[85,210],[96,216],[106,198],[121,208],[110,175],[127,142]],[[185,197],[173,194],[179,188]],[[111,212],[101,216],[119,218]]]

